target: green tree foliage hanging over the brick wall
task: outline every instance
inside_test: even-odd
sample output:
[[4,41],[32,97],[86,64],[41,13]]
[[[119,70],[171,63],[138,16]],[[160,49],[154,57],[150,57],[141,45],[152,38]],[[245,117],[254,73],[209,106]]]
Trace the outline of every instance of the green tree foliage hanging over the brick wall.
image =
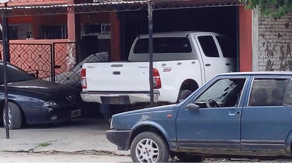
[[292,0],[239,0],[245,4],[246,9],[256,9],[257,5],[261,6],[261,13],[275,20],[292,10]]

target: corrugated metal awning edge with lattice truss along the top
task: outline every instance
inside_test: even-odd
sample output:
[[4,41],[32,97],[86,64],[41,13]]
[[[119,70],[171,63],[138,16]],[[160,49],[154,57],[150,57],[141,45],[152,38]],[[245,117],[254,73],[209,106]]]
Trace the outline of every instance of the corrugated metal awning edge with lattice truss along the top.
[[[0,7],[0,10],[9,10],[9,16],[98,13],[141,9],[147,10],[148,2],[149,0],[111,2],[110,0],[104,0],[104,2],[100,3]],[[154,2],[154,10],[242,5],[238,0],[152,0],[152,2]]]

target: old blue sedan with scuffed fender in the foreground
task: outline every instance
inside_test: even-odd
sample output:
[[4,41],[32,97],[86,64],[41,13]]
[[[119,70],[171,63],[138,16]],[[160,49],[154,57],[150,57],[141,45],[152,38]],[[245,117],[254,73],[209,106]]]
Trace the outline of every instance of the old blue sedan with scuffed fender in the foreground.
[[106,132],[133,162],[291,156],[292,73],[223,73],[179,104],[115,114]]

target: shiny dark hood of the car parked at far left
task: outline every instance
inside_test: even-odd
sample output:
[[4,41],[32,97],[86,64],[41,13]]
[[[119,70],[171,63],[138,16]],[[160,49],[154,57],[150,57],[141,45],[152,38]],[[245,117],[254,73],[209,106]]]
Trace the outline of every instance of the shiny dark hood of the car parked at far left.
[[8,84],[8,88],[12,92],[18,90],[26,94],[35,95],[44,100],[62,100],[69,94],[79,94],[80,92],[74,87],[41,79],[10,83]]

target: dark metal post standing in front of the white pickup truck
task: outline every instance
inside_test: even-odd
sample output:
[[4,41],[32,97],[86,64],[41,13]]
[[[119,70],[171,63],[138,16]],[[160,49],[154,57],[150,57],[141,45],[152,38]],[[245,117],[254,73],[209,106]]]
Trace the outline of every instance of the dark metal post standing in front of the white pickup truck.
[[152,25],[152,2],[148,2],[148,30],[149,30],[149,84],[150,84],[150,107],[154,106],[153,92],[153,25]]

